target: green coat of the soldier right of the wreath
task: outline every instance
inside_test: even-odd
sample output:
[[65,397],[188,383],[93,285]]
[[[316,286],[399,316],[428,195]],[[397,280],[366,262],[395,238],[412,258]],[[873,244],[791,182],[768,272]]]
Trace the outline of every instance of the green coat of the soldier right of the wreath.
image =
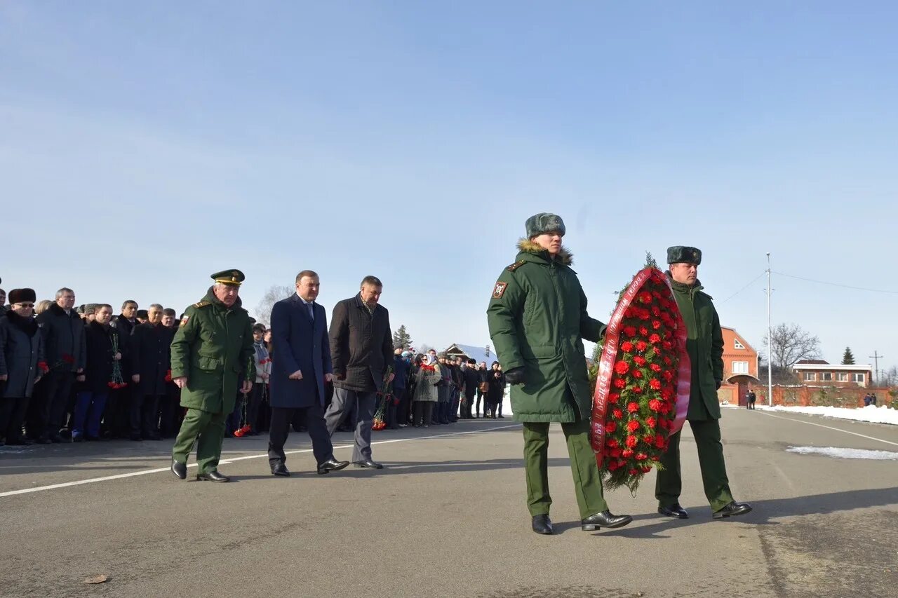
[[[670,277],[670,273],[668,273]],[[719,419],[718,381],[724,378],[724,336],[711,295],[701,283],[692,286],[671,279],[674,299],[686,322],[686,350],[692,362],[692,385],[687,419]]]

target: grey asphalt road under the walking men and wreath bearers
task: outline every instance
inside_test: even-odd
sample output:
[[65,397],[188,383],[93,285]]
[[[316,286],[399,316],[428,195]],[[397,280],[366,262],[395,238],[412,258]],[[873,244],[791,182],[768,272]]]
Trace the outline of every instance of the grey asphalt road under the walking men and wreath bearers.
[[[521,430],[507,418],[375,433],[387,469],[327,476],[292,434],[288,479],[269,474],[266,439],[229,439],[229,484],[174,479],[170,443],[6,447],[0,595],[898,596],[898,461],[787,452],[898,453],[898,427],[735,409],[722,425],[731,487],[752,514],[711,520],[687,427],[691,518],[656,514],[649,474],[636,497],[607,496],[635,521],[596,533],[579,529],[553,427],[553,536],[530,531]],[[335,436],[338,458],[348,440]]]

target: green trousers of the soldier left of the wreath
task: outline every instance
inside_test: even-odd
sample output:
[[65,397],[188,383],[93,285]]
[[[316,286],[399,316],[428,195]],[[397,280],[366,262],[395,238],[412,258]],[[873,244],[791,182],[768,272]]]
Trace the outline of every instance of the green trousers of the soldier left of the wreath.
[[[602,477],[589,444],[589,422],[561,424],[568,442],[570,471],[580,518],[608,509],[602,492]],[[527,508],[532,516],[549,514],[549,424],[524,422],[524,472],[527,477]]]

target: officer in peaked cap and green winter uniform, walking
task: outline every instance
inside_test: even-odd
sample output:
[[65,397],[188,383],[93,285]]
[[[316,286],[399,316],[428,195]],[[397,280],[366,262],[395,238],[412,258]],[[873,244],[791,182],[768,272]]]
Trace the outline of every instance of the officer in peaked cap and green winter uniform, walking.
[[252,324],[241,306],[240,270],[212,275],[215,284],[190,305],[172,340],[172,381],[180,388],[180,405],[187,415],[172,448],[172,473],[187,477],[187,457],[197,443],[197,479],[226,482],[218,472],[225,437],[225,419],[233,411],[240,389],[249,392],[255,380]]

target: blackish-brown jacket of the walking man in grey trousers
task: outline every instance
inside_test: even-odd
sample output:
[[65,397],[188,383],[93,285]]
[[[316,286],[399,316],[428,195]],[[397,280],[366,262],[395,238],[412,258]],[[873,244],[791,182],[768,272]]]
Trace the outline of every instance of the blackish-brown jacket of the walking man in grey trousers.
[[386,308],[378,304],[374,313],[368,312],[361,294],[334,305],[330,358],[334,386],[349,391],[379,390],[383,373],[393,362],[390,313]]

